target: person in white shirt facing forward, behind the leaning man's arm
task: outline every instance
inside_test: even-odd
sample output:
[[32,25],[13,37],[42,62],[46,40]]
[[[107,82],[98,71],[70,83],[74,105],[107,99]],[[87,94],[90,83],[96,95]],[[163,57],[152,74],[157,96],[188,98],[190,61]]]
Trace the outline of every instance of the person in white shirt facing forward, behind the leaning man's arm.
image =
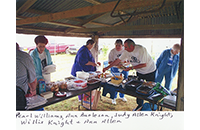
[[[111,64],[115,59],[119,58],[121,54],[123,53],[124,48],[123,48],[123,42],[121,39],[117,39],[115,42],[115,48],[113,48],[108,56],[108,63]],[[119,69],[116,66],[111,67],[111,72],[113,73],[120,73]],[[128,77],[128,71],[122,71],[121,72],[124,75],[124,79]],[[117,93],[115,92],[115,97],[112,100],[112,104],[116,104],[116,98],[117,98]],[[119,92],[120,99],[124,102],[127,101],[127,99],[124,97],[123,93]]]

